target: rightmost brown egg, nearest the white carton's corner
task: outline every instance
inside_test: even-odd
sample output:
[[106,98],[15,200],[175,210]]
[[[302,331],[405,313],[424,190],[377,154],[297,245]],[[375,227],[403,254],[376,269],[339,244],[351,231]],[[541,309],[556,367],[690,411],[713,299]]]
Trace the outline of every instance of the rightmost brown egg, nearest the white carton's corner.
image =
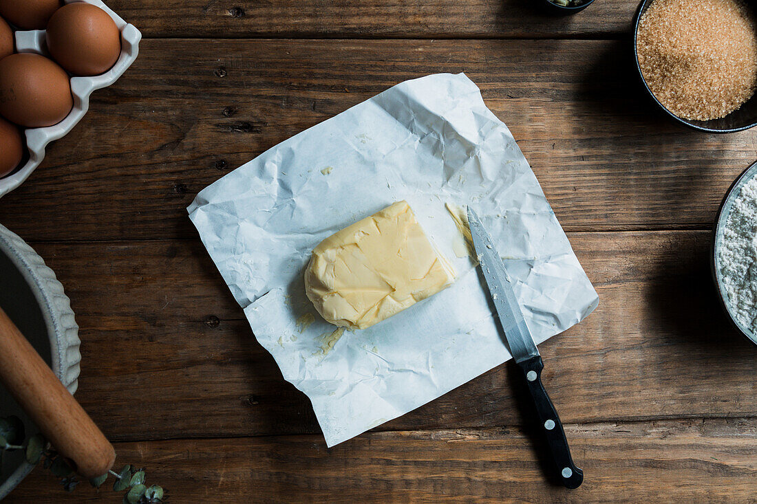
[[50,54],[74,75],[107,72],[121,54],[121,33],[99,7],[73,3],[58,9],[47,29]]

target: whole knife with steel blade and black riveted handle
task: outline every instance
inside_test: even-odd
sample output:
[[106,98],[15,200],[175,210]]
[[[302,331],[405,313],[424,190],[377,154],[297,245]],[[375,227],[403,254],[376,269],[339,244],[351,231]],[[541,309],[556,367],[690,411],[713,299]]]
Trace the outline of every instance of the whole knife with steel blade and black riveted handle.
[[473,246],[478,262],[481,263],[491,300],[497,308],[497,315],[500,317],[512,358],[522,370],[523,379],[528,385],[531,399],[534,400],[540,422],[539,430],[547,438],[557,477],[565,487],[578,488],[584,481],[584,471],[573,463],[560,418],[547,395],[547,390],[544,390],[544,385],[541,384],[541,370],[544,369],[544,362],[541,360],[534,338],[531,338],[531,331],[525,324],[518,298],[512,291],[512,280],[507,274],[500,254],[494,248],[491,236],[471,207],[468,207],[468,222]]

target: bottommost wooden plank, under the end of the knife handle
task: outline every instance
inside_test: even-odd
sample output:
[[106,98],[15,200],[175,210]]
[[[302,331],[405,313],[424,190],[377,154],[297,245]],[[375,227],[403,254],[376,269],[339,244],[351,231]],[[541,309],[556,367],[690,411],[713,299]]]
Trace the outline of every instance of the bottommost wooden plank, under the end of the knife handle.
[[[757,421],[569,425],[586,480],[547,484],[516,428],[365,434],[327,450],[314,436],[118,443],[170,502],[754,502]],[[69,495],[37,468],[8,504],[114,502]]]

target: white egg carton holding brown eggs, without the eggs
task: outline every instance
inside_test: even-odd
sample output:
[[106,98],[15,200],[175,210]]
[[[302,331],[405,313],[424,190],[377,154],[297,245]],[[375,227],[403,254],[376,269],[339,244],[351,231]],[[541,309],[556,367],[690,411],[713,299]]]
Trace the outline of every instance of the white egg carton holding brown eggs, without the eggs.
[[[96,5],[103,11],[107,12],[113,18],[121,32],[121,55],[111,70],[94,77],[72,76],[71,94],[73,95],[73,109],[70,114],[55,126],[45,128],[30,128],[24,131],[26,135],[26,148],[29,151],[29,160],[11,175],[0,178],[0,198],[17,188],[26,180],[32,172],[42,163],[45,158],[45,148],[47,145],[58,138],[67,135],[68,132],[76,126],[89,110],[89,96],[95,89],[101,89],[111,86],[120,76],[126,72],[139,54],[139,41],[142,40],[142,33],[132,24],[126,23],[114,11],[111,11],[100,0],[66,0],[64,3],[72,4],[75,2],[86,2]],[[17,31],[16,52],[32,52],[42,54],[50,58],[45,42],[45,30],[25,30]]]

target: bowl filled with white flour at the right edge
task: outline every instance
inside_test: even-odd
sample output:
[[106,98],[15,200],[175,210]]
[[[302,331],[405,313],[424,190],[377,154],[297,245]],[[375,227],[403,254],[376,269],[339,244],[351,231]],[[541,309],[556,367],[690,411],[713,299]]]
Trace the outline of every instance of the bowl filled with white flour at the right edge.
[[711,257],[725,311],[757,344],[757,163],[744,170],[723,198]]

